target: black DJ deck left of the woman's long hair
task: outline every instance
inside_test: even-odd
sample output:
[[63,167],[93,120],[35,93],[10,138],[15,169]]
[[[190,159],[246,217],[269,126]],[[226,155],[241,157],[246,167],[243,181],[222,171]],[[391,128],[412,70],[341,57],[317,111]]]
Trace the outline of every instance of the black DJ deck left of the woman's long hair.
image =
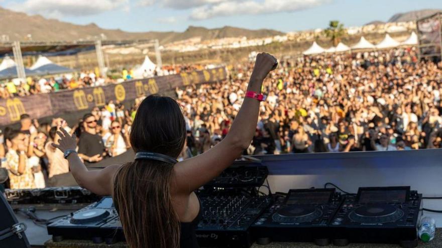
[[48,225],[48,234],[54,241],[62,239],[92,239],[112,243],[124,240],[120,218],[112,197],[104,197],[70,215]]

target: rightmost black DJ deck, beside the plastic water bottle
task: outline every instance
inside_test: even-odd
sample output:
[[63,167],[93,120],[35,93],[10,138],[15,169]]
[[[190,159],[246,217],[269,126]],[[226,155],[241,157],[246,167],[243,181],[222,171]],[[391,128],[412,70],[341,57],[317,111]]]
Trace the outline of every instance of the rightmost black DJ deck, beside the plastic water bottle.
[[349,242],[417,246],[421,195],[410,187],[359,188],[349,195],[330,224],[335,245]]

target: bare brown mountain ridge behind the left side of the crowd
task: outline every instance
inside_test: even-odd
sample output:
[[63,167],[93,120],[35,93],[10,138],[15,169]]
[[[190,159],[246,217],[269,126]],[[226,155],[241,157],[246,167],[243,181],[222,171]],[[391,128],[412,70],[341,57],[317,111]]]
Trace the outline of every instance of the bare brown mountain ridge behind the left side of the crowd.
[[27,35],[34,41],[75,41],[88,40],[103,34],[107,40],[158,39],[160,43],[186,40],[192,37],[217,39],[246,36],[260,38],[283,33],[274,30],[247,30],[233,27],[206,29],[189,27],[185,32],[125,32],[122,30],[102,29],[95,24],[75,25],[54,19],[46,19],[40,15],[29,16],[0,7],[0,36],[8,35],[10,41],[23,41]]

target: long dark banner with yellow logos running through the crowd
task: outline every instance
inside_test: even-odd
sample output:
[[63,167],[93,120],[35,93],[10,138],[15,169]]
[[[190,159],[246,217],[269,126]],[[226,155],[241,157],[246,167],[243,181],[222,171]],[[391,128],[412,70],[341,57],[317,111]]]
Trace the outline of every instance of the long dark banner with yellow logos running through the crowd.
[[162,93],[190,84],[211,83],[227,78],[226,68],[181,73],[162,77],[126,81],[102,87],[81,88],[27,97],[0,100],[0,125],[20,121],[20,115],[31,118],[65,114],[104,106],[108,101],[134,100],[140,96]]

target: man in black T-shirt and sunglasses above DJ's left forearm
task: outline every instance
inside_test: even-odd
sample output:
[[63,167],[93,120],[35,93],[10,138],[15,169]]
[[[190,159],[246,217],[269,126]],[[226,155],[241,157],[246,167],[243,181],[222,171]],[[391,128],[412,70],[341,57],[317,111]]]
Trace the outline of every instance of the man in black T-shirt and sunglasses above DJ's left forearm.
[[84,164],[91,165],[99,162],[106,155],[101,135],[96,131],[97,119],[92,114],[83,116],[84,132],[81,133],[78,142],[78,155],[84,160]]

